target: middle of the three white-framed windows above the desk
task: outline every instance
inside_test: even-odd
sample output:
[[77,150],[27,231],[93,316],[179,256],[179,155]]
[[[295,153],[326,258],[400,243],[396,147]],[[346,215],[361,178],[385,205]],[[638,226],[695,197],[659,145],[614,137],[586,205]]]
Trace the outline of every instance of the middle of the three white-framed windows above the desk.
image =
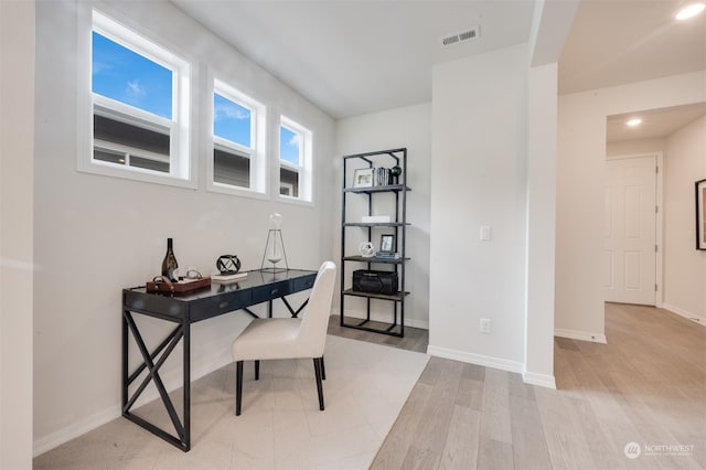
[[266,193],[265,107],[221,81],[214,81],[213,160],[210,189]]

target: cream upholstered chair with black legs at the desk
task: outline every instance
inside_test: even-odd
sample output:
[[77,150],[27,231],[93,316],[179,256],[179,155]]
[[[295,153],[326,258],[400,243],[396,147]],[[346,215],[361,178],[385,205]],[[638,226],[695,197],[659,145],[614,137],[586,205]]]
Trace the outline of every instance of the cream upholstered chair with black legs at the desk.
[[313,360],[319,392],[319,409],[323,410],[322,378],[325,380],[323,348],[327,341],[331,299],[335,284],[335,265],[324,261],[319,268],[303,318],[255,319],[233,341],[236,364],[235,414],[243,403],[243,361],[255,361],[255,380],[259,380],[259,361],[272,359]]

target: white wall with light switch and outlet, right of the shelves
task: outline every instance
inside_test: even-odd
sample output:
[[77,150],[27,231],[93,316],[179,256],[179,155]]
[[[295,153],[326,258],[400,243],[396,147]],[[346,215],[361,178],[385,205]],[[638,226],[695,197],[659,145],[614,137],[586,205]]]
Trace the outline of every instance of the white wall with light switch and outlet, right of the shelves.
[[[432,74],[429,352],[521,372],[525,335],[525,44]],[[481,225],[492,241],[479,241]],[[492,334],[479,320],[492,321]]]

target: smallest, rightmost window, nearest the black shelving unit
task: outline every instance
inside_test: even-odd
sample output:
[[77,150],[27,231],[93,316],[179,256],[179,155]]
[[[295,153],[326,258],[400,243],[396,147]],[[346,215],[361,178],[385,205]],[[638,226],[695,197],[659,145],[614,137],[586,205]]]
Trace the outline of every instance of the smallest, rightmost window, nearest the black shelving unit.
[[279,126],[279,194],[311,202],[311,131],[282,116]]

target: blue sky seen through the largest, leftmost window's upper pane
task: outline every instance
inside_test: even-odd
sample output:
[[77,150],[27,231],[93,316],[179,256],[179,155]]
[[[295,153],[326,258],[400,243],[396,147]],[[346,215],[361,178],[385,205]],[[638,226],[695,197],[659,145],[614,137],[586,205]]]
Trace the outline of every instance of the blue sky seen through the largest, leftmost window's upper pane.
[[94,93],[172,119],[172,71],[93,32]]

